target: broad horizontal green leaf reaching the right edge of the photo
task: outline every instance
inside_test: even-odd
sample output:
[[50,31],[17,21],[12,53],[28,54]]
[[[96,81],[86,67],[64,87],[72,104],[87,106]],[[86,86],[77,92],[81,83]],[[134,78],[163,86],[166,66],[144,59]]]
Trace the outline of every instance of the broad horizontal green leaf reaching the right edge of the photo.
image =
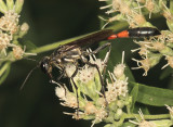
[[173,91],[156,87],[148,87],[137,82],[131,82],[130,86],[138,86],[137,102],[154,105],[164,106],[164,104],[173,105]]

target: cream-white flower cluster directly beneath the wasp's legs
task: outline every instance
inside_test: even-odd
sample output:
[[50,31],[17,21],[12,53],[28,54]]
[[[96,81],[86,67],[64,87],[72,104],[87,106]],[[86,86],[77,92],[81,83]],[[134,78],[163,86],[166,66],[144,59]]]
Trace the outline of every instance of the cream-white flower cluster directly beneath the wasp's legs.
[[[102,73],[106,66],[106,59],[108,58],[106,56],[105,60],[102,61],[101,59],[96,59],[95,55],[90,55],[90,63],[96,64]],[[124,75],[125,65],[123,61],[124,53],[122,55],[122,62],[115,67],[114,73],[109,73],[111,82],[107,79],[105,91],[102,91],[103,86],[96,67],[90,66],[89,64],[78,68],[79,71],[74,78],[76,86],[71,81],[72,92],[69,91],[65,85],[61,86],[55,82],[58,85],[55,91],[62,101],[61,104],[77,109],[75,113],[65,114],[72,115],[72,118],[76,119],[93,119],[92,127],[105,120],[109,112],[115,112],[117,114],[116,118],[120,117],[125,103],[124,99],[128,97],[128,77]],[[71,76],[75,69],[76,67],[72,64],[67,65],[67,75]],[[75,87],[77,87],[77,89],[74,89]],[[123,98],[123,100],[119,97]],[[115,106],[112,103],[115,103]]]

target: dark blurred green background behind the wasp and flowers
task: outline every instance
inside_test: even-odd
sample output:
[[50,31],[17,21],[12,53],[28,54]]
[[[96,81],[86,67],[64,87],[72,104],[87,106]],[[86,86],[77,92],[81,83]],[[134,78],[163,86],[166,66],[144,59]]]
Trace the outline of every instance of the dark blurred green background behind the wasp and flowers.
[[[37,47],[52,43],[58,40],[76,37],[99,29],[98,14],[103,14],[99,5],[104,4],[97,0],[25,0],[21,14],[21,22],[27,22],[30,26],[29,33],[23,41],[29,40]],[[163,25],[156,25],[164,29]],[[122,42],[121,42],[122,41]],[[128,42],[130,41],[130,42]],[[131,49],[137,48],[131,39],[118,39],[114,43],[111,55],[120,55],[125,50],[125,61],[129,66],[136,66],[130,58]],[[117,50],[118,49],[118,50]],[[40,61],[52,51],[38,54],[32,59]],[[115,52],[119,52],[116,54]],[[120,62],[120,61],[119,61]],[[151,69],[148,77],[143,77],[143,71],[135,71],[135,79],[143,84],[157,87],[164,86],[171,79],[170,76],[158,80],[160,67]],[[75,120],[63,112],[72,112],[59,104],[55,96],[55,85],[49,84],[49,77],[39,68],[29,77],[23,90],[19,87],[28,72],[36,66],[29,60],[17,61],[12,64],[11,73],[6,80],[0,86],[0,127],[90,127],[91,122]],[[98,125],[96,125],[98,126]],[[101,125],[99,125],[101,126]]]

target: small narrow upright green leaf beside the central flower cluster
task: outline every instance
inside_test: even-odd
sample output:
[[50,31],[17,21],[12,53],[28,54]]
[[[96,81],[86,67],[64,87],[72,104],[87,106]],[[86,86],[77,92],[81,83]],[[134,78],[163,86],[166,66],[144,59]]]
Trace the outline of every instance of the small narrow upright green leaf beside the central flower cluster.
[[134,105],[135,105],[135,102],[137,100],[137,94],[138,94],[138,85],[134,86],[131,93],[130,93],[130,96],[132,97],[131,113],[134,110]]

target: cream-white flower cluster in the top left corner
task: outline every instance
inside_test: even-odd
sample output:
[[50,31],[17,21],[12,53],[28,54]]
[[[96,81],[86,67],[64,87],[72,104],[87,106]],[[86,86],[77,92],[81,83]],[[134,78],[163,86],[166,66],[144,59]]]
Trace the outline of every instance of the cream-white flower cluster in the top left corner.
[[[2,13],[0,17],[0,59],[3,61],[5,61],[6,58],[9,58],[10,61],[21,60],[24,54],[36,55],[25,53],[25,47],[22,48],[18,42],[18,38],[25,36],[29,29],[27,23],[18,25],[23,3],[24,0],[0,1],[0,12]],[[13,56],[11,56],[11,52]]]

